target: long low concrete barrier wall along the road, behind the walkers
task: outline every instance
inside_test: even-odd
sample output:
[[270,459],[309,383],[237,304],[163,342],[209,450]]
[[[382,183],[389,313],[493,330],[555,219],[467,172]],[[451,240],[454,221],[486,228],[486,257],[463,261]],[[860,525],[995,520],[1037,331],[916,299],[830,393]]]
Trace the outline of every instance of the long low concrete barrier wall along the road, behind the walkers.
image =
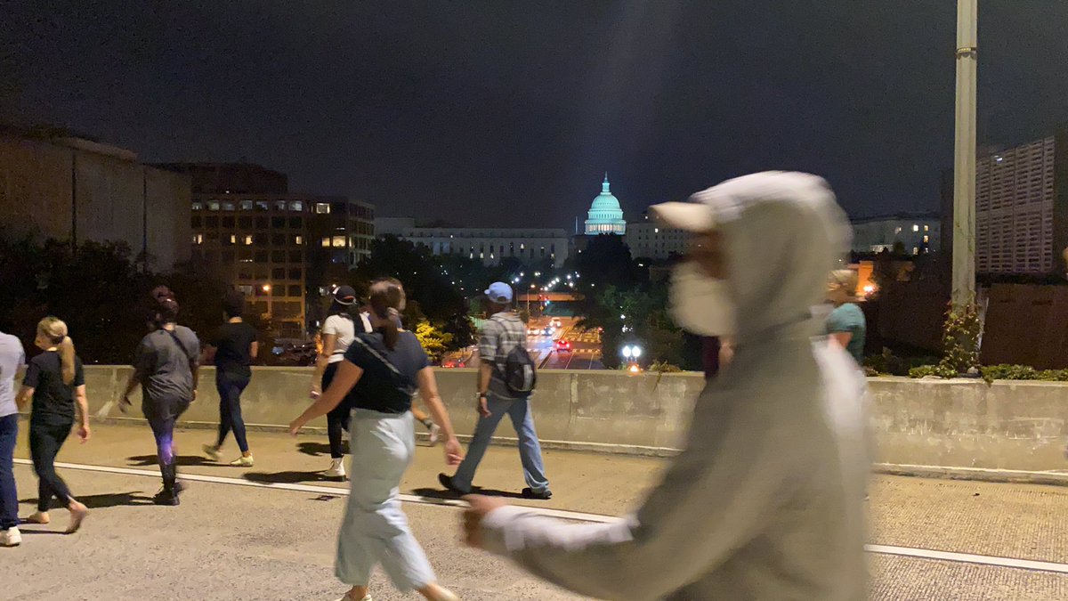
[[[85,368],[93,414],[117,398],[129,368]],[[254,368],[242,397],[247,423],[284,427],[308,405],[310,368]],[[218,422],[215,373],[201,375],[201,398],[187,425]],[[438,371],[438,386],[456,431],[474,430],[475,372]],[[1068,384],[969,380],[869,379],[878,461],[892,464],[1047,471],[1068,466]],[[538,373],[532,405],[547,446],[672,454],[685,434],[704,379],[696,373],[631,375],[614,371]],[[137,412],[136,412],[137,413]],[[117,416],[117,411],[111,412]],[[325,428],[320,418],[311,427]],[[502,421],[499,442],[514,440]]]

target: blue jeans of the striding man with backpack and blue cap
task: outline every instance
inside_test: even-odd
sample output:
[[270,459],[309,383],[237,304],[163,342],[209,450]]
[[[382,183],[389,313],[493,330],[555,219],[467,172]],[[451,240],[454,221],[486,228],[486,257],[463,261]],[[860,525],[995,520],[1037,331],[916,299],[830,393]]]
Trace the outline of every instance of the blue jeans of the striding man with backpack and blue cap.
[[549,490],[549,480],[545,477],[545,462],[541,460],[541,444],[534,431],[534,416],[530,411],[530,398],[502,399],[493,394],[486,400],[489,406],[489,417],[478,416],[474,427],[474,436],[468,445],[467,457],[460,463],[453,476],[453,484],[461,491],[471,490],[474,472],[478,468],[482,457],[486,454],[489,440],[497,431],[497,425],[505,414],[512,418],[512,426],[519,434],[519,459],[523,464],[523,477],[527,486],[535,493]]

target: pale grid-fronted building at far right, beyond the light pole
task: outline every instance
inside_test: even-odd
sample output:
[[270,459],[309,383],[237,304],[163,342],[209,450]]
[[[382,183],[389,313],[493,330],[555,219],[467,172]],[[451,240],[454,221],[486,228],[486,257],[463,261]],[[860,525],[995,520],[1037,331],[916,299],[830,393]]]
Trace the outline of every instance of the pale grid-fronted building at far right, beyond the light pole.
[[1063,272],[1068,246],[1068,129],[980,156],[975,169],[979,274]]

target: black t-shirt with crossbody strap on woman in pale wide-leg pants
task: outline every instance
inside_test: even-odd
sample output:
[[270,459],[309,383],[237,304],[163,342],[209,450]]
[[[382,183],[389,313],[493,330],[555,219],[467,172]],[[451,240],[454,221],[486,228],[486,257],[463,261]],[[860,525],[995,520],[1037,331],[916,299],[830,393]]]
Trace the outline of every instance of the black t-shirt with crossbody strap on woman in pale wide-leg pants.
[[[384,357],[398,373],[386,367],[375,354]],[[390,351],[381,334],[359,334],[345,352],[345,360],[363,369],[363,375],[348,395],[354,406],[380,413],[405,413],[419,390],[419,372],[430,365],[419,339],[402,332],[396,349]]]

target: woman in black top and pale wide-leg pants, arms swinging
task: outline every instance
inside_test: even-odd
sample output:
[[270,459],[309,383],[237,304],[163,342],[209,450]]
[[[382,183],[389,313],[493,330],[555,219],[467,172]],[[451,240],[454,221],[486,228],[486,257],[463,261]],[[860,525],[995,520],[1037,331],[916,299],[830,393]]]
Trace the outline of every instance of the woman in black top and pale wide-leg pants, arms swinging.
[[431,601],[458,599],[436,582],[434,570],[397,498],[415,447],[411,401],[418,390],[445,435],[447,465],[462,459],[434,370],[419,340],[397,327],[405,293],[393,279],[371,286],[374,334],[357,336],[326,392],[289,425],[294,435],[349,397],[352,410],[352,488],[337,537],[334,573],[352,588],[340,601],[370,601],[367,584],[378,563],[403,591]]

